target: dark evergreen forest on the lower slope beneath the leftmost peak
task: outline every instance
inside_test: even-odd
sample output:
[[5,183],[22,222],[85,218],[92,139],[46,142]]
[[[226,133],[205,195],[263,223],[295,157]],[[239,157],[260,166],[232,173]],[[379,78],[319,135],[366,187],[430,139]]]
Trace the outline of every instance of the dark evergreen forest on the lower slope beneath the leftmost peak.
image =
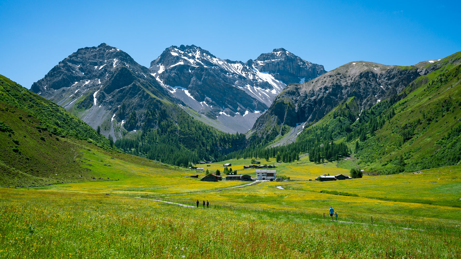
[[142,116],[131,112],[130,118],[142,119],[142,132],[118,139],[115,146],[126,153],[170,165],[225,160],[227,153],[247,145],[244,134],[223,133],[185,112],[172,113],[160,106],[148,108]]

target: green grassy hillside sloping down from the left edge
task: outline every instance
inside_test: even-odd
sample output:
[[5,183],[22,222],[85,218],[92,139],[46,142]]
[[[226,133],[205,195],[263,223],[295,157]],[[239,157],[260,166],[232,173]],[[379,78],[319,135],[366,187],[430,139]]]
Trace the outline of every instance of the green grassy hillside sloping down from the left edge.
[[112,149],[88,124],[3,76],[0,143],[0,186],[113,182],[149,171],[178,172]]

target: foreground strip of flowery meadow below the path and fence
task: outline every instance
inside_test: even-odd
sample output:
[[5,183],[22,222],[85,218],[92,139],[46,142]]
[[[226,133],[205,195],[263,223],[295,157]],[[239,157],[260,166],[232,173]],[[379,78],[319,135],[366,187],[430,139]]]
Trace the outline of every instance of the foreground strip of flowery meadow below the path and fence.
[[121,195],[0,189],[1,258],[459,258],[459,227],[345,224]]

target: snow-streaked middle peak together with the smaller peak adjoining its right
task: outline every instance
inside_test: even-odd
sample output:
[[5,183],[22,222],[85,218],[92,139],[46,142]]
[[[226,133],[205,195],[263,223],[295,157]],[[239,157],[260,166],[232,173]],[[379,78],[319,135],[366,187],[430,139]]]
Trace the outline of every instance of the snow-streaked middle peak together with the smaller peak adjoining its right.
[[165,49],[151,62],[150,70],[171,94],[207,119],[217,120],[228,132],[246,132],[253,126],[286,86],[279,78],[299,77],[296,82],[300,82],[325,72],[323,66],[287,51],[261,54],[255,62],[243,63],[219,59],[195,45]]

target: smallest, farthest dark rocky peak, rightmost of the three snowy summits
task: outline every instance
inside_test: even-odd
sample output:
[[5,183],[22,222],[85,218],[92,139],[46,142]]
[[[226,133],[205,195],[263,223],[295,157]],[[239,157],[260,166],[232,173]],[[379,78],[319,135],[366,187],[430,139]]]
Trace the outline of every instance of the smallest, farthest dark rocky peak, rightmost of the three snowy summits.
[[326,72],[323,65],[301,59],[284,48],[261,54],[252,63],[257,70],[268,72],[285,84],[307,82]]

